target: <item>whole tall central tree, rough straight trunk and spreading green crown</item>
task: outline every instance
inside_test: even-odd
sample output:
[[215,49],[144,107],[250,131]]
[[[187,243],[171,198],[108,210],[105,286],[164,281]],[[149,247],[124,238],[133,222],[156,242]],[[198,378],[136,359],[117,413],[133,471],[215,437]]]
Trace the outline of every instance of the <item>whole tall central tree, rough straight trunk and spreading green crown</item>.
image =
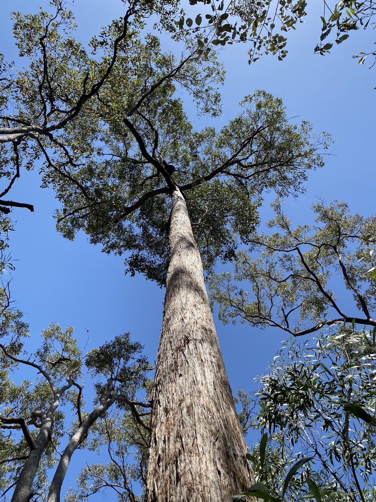
[[[132,274],[167,284],[146,500],[230,500],[254,479],[196,242],[207,269],[217,257],[231,258],[238,236],[246,241],[257,222],[262,190],[298,189],[306,169],[322,159],[309,124],[290,124],[280,100],[263,92],[246,98],[244,111],[220,133],[193,132],[154,37],[143,51],[137,90],[116,76],[99,93],[100,154],[71,174],[84,190],[51,171],[63,202],[58,228],[71,238],[84,229],[106,252],[126,253]],[[199,63],[179,63],[175,82],[190,77],[188,71],[198,75]],[[126,68],[119,65],[119,75],[135,71]],[[190,78],[191,87],[199,83]]]

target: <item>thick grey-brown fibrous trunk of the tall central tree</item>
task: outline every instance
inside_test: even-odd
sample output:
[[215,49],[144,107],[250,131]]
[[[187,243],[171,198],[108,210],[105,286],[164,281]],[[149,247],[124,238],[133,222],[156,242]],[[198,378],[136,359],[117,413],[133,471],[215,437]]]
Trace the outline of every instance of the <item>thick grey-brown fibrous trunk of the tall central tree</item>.
[[147,502],[230,502],[254,483],[184,198],[172,193]]

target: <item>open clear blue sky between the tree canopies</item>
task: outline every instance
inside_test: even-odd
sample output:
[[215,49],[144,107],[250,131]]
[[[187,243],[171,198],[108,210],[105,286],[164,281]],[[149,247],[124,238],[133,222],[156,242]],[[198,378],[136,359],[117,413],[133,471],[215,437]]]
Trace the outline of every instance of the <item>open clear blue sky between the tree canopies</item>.
[[[40,0],[13,0],[4,3],[0,18],[0,52],[14,59],[10,11],[35,12]],[[311,173],[307,191],[287,201],[296,223],[311,222],[310,205],[317,197],[327,202],[337,198],[349,202],[353,212],[365,216],[374,212],[374,124],[376,70],[371,63],[358,65],[351,55],[373,47],[372,30],[353,33],[325,57],[314,55],[320,33],[321,2],[313,1],[316,12],[304,25],[289,35],[289,54],[283,62],[264,56],[256,64],[247,63],[247,47],[234,45],[220,51],[227,81],[223,88],[222,117],[211,123],[221,127],[237,114],[238,102],[256,89],[282,97],[289,116],[313,123],[317,133],[330,132],[336,140],[326,167]],[[102,25],[124,11],[120,0],[76,0],[72,10],[77,16],[78,38],[87,42]],[[7,12],[9,11],[9,13]],[[311,10],[309,11],[311,13]],[[186,103],[190,116],[195,109]],[[197,128],[209,123],[195,119]],[[36,166],[37,167],[37,166]],[[67,241],[55,230],[52,218],[54,193],[40,189],[38,169],[22,173],[12,191],[14,200],[35,205],[35,212],[13,210],[17,220],[11,251],[17,259],[12,280],[12,296],[26,313],[33,340],[52,321],[65,328],[74,326],[84,345],[89,331],[90,346],[97,346],[114,335],[130,331],[145,345],[154,361],[161,327],[163,291],[143,277],[125,277],[121,257],[107,256],[100,247],[90,245],[84,235]],[[262,213],[264,210],[262,211]],[[265,209],[265,213],[267,210]],[[218,333],[230,383],[234,393],[254,389],[253,379],[273,360],[280,341],[276,330],[258,331],[246,325],[222,326]],[[35,341],[37,342],[37,340]]]

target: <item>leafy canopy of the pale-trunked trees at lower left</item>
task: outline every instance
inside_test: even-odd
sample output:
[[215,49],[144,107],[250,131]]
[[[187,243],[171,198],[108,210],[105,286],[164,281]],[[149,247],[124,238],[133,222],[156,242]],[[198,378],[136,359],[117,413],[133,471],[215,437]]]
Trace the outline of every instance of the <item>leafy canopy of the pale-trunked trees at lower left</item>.
[[[102,466],[102,476],[114,483],[116,477],[116,490],[121,500],[135,500],[131,482],[142,481],[140,469],[145,468],[147,409],[150,408],[147,402],[135,401],[136,394],[149,386],[146,373],[150,366],[140,356],[142,346],[131,342],[129,333],[125,333],[117,336],[114,342],[84,354],[72,328],[63,331],[52,324],[42,332],[41,347],[27,354],[22,338],[28,336],[28,327],[22,321],[22,314],[8,312],[7,318],[8,333],[3,332],[5,341],[0,344],[2,496],[17,489],[31,453],[41,448],[30,499],[47,499],[51,477],[61,463],[61,454],[82,430],[84,434],[74,449],[87,447],[98,451],[101,445],[107,445],[109,456],[106,467]],[[29,376],[19,382],[18,375],[25,373],[25,368],[29,368],[31,379]],[[88,375],[94,378],[96,389],[93,411],[85,406],[83,397]],[[89,396],[92,395],[89,391]],[[110,410],[115,402],[120,406],[114,413]],[[146,423],[140,418],[142,415]],[[41,435],[49,418],[52,428],[47,443],[43,444]],[[136,467],[134,458],[141,467]],[[87,464],[80,475],[81,482],[89,470]]]

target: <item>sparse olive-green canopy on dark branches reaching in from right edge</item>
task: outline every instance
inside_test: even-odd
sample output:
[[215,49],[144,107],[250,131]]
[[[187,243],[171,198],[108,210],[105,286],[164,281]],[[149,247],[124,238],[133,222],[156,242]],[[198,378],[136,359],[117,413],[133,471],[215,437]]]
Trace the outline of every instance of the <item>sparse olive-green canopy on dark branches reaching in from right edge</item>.
[[[318,202],[316,225],[294,229],[281,203],[273,207],[268,226],[276,231],[254,235],[249,252],[237,253],[234,274],[212,279],[220,318],[279,327],[295,336],[344,322],[376,327],[375,217],[351,215],[345,203]],[[345,292],[339,300],[333,292],[339,281],[347,299]],[[247,283],[251,299],[243,289]]]

